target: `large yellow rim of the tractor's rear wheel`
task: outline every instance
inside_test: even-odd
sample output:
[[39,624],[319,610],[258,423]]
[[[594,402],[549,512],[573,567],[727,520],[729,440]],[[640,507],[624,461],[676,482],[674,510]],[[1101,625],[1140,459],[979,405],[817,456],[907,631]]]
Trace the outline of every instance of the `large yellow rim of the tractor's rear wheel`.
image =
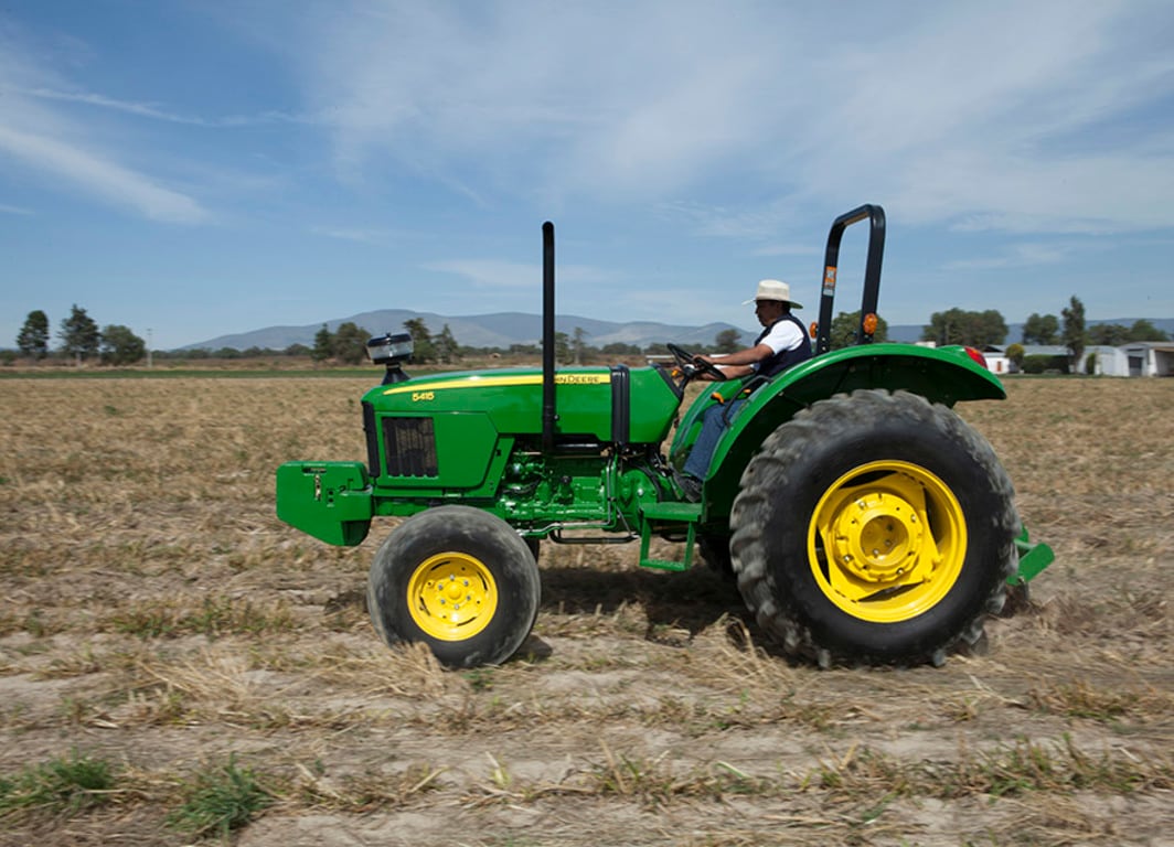
[[816,504],[808,561],[824,595],[875,623],[909,621],[937,605],[966,558],[966,521],[953,492],[925,468],[862,465]]

